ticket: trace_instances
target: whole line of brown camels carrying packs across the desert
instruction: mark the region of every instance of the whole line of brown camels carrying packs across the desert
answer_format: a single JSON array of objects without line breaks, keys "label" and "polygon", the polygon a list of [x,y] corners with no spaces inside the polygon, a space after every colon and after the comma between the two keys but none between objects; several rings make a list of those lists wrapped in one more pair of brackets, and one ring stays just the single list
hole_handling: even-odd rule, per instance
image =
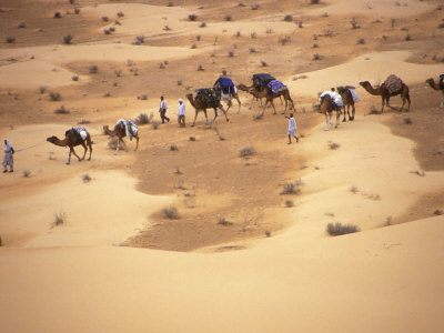
[{"label": "whole line of brown camels carrying packs across the desert", "polygon": [[[281,98],[281,102],[282,98],[285,101],[285,108],[282,112],[283,114],[286,113],[287,109],[293,109],[294,112],[296,111],[287,87],[284,85],[281,81],[278,81],[273,75],[269,73],[256,73],[252,75],[251,80],[251,85],[245,85],[241,83],[236,87],[230,78],[220,77],[214,82],[213,88],[196,89],[195,95],[188,93],[186,99],[195,110],[192,127],[195,125],[198,114],[201,111],[205,115],[205,123],[209,123],[206,113],[208,109],[213,109],[214,111],[214,118],[211,121],[210,127],[215,122],[219,115],[222,115],[222,113],[224,114],[225,120],[229,121],[228,111],[233,105],[232,100],[238,101],[238,113],[240,113],[242,103],[239,98],[239,90],[252,95],[250,109],[252,108],[254,100],[259,100],[260,108],[262,109],[262,115],[264,114],[268,105],[271,105],[274,111],[273,114],[276,114],[276,108],[273,102],[273,100],[276,98]],[[437,83],[433,78],[427,79],[425,82],[432,89],[441,91],[442,100],[440,103],[440,108],[444,108],[444,74],[440,75]],[[407,103],[407,108],[405,110],[410,110],[411,99],[408,85],[405,84],[402,79],[394,74],[389,75],[386,80],[377,87],[373,87],[369,81],[362,81],[360,82],[360,85],[363,87],[370,94],[381,95],[382,107],[380,113],[383,113],[385,105],[391,109],[402,111],[404,110],[404,105]],[[390,105],[390,98],[395,95],[401,95],[402,99],[402,107],[398,109]],[[262,99],[265,99],[265,103],[262,103]],[[180,101],[182,100],[180,99]],[[222,101],[226,102],[226,110],[222,105]],[[334,128],[337,128],[340,125],[341,113],[343,113],[343,122],[346,122],[347,120],[353,121],[355,119],[355,103],[359,101],[360,98],[355,91],[355,87],[336,87],[319,93],[319,104],[314,105],[314,110],[317,110],[319,113],[324,114],[325,130],[329,131],[330,127],[333,124],[332,117],[334,112],[336,113],[336,122],[334,124]],[[182,127],[184,127],[184,117],[182,121]],[[132,120],[120,119],[112,130],[110,130],[108,125],[104,125],[103,133],[110,137],[117,137],[118,140],[115,154],[119,153],[119,149],[127,150],[127,144],[123,141],[123,138],[129,138],[130,140],[134,138],[134,151],[137,151],[139,148],[139,129],[137,123]],[[56,135],[52,135],[48,138],[47,141],[54,145],[68,147],[70,149],[67,164],[70,164],[71,162],[71,154],[74,154],[74,157],[78,158],[79,161],[83,161],[87,155],[88,149],[90,151],[88,160],[91,160],[93,142],[87,129],[83,127],[67,130],[64,133],[64,139],[59,139]],[[74,147],[77,145],[81,145],[84,149],[82,158],[80,158],[74,151]]]}]

